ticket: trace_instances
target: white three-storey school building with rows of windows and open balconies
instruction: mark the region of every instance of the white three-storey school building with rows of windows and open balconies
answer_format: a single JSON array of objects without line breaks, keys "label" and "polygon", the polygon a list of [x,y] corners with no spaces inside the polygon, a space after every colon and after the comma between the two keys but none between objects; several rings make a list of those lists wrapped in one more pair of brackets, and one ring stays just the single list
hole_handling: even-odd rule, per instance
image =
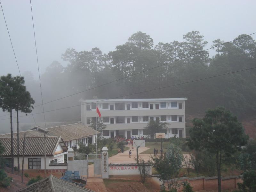
[{"label": "white three-storey school building with rows of windows and open balconies", "polygon": [[169,99],[116,99],[116,100],[79,100],[81,102],[81,121],[91,124],[96,120],[96,105],[107,128],[104,138],[121,136],[147,136],[145,127],[150,120],[166,122],[165,138],[176,135],[186,137],[185,101],[187,98]]}]

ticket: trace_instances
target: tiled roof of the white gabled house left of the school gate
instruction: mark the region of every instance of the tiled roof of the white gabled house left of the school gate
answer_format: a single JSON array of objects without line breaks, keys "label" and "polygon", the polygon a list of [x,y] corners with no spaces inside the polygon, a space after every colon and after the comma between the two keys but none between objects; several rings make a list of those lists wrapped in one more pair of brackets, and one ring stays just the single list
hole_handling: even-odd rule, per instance
[{"label": "tiled roof of the white gabled house left of the school gate", "polygon": [[[25,139],[25,156],[44,155],[44,137],[26,137]],[[0,138],[0,143],[4,147],[3,156],[11,156],[11,138]],[[65,146],[61,137],[46,137],[45,149],[46,155],[54,155],[58,144],[62,146],[64,151],[68,148]],[[20,155],[23,154],[23,138],[19,138]],[[17,138],[13,138],[13,153],[17,155]]]}]

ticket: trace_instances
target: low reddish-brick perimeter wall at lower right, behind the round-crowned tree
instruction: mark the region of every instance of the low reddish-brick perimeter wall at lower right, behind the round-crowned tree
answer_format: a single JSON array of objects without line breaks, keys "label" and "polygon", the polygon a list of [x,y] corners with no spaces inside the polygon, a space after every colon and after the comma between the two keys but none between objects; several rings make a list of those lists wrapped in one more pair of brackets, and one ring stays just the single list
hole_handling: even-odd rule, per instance
[{"label": "low reddish-brick perimeter wall at lower right, behind the round-crowned tree", "polygon": [[[156,175],[152,175],[151,177],[152,181],[155,181],[159,185],[162,185],[163,182],[159,179],[157,179]],[[212,191],[218,189],[218,179],[217,177],[195,177],[195,178],[180,178],[179,182],[187,181],[190,183],[191,187],[194,191],[198,190],[206,190],[206,191]],[[230,189],[236,189],[238,188],[237,183],[243,183],[243,180],[241,176],[231,176],[231,177],[224,177],[221,179],[221,188],[222,190],[230,190]],[[165,184],[167,187],[167,185]],[[182,191],[182,188],[179,188],[178,191]]]}]

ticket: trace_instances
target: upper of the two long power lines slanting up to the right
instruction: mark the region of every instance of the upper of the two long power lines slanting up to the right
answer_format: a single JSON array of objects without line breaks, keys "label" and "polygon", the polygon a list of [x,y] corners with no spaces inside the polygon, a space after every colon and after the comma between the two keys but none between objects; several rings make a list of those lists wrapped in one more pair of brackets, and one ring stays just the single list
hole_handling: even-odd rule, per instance
[{"label": "upper of the two long power lines slanting up to the right", "polygon": [[[246,36],[243,36],[243,37],[239,37],[239,38],[234,39],[234,40],[232,40],[232,41],[225,42],[225,43],[223,43],[223,44],[219,44],[219,45],[213,46],[213,47],[208,48],[208,49],[204,49],[204,50],[202,50],[202,51],[199,51],[199,52],[193,53],[193,54],[191,54],[191,55],[188,55],[188,56],[185,56],[185,57],[182,57],[182,58],[176,59],[176,60],[172,60],[172,61],[167,62],[167,63],[164,63],[164,64],[162,64],[162,65],[158,65],[158,66],[156,66],[156,67],[149,68],[149,69],[146,69],[146,70],[140,71],[140,72],[138,72],[138,73],[134,73],[134,74],[129,75],[129,76],[124,76],[124,77],[122,77],[122,78],[120,78],[120,79],[116,79],[116,80],[114,80],[114,81],[111,81],[111,82],[108,82],[108,83],[105,83],[105,84],[102,84],[102,85],[99,85],[99,86],[96,86],[96,87],[92,87],[92,88],[90,88],[90,89],[86,89],[86,90],[84,90],[84,91],[76,92],[76,93],[71,94],[71,95],[67,95],[67,96],[64,96],[64,97],[61,97],[61,98],[58,98],[58,99],[55,99],[55,100],[51,100],[51,101],[46,102],[46,103],[44,103],[44,104],[48,104],[48,103],[51,103],[51,102],[53,102],[53,101],[61,100],[61,99],[64,99],[64,98],[67,98],[67,97],[70,97],[70,96],[73,96],[73,95],[76,95],[76,94],[79,94],[79,93],[82,93],[82,92],[86,92],[86,91],[89,91],[89,90],[92,90],[92,89],[95,89],[95,88],[98,88],[98,87],[102,87],[102,86],[104,86],[104,85],[111,84],[111,83],[114,83],[114,82],[117,82],[117,81],[120,81],[120,80],[126,79],[126,78],[131,77],[131,76],[138,75],[138,74],[140,74],[140,73],[144,73],[144,72],[146,72],[146,71],[149,71],[149,70],[152,70],[152,69],[155,69],[155,68],[158,68],[158,67],[162,67],[162,66],[164,66],[164,65],[167,65],[167,64],[173,63],[173,62],[175,62],[175,61],[178,61],[178,60],[182,60],[182,59],[185,59],[185,58],[191,57],[191,56],[196,55],[196,54],[199,54],[199,53],[201,53],[201,52],[208,51],[208,50],[210,50],[210,49],[213,49],[213,48],[216,48],[216,47],[222,46],[222,45],[224,45],[224,44],[228,44],[228,43],[234,42],[234,41],[236,41],[236,40],[238,40],[238,39],[242,39],[242,38],[244,38],[244,37],[251,36],[251,35],[254,35],[254,34],[256,34],[256,32],[255,32],[255,33],[251,33],[250,35],[246,35]],[[39,80],[40,80],[40,79],[39,79]],[[36,105],[36,106],[34,106],[34,107],[38,107],[38,106],[41,106],[41,105],[42,105],[42,104],[40,104],[40,105]]]}]

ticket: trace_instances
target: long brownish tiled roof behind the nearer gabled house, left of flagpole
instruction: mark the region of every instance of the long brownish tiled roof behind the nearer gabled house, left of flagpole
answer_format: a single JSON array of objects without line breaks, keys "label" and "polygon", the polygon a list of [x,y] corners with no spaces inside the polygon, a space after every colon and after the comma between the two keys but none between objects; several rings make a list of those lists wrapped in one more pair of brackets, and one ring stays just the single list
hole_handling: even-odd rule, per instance
[{"label": "long brownish tiled roof behind the nearer gabled house, left of flagpole", "polygon": [[[61,136],[64,142],[90,137],[100,133],[82,123],[51,127],[44,130],[47,131],[47,136]],[[37,126],[34,127],[33,130],[19,132],[19,137],[24,137],[24,133],[26,133],[26,137],[41,137],[43,134],[42,128]],[[0,137],[9,138],[11,134],[0,135]],[[13,133],[13,137],[17,137],[17,133]]]}]

